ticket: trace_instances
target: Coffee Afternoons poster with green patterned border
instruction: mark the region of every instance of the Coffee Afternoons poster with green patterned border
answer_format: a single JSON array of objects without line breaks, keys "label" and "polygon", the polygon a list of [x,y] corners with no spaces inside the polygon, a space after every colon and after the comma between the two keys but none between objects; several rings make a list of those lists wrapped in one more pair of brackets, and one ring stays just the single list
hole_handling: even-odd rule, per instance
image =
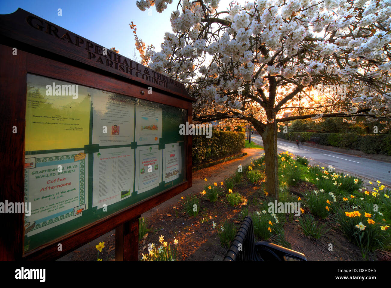
[{"label": "Coffee Afternoons poster with green patterned border", "polygon": [[38,154],[25,157],[25,202],[34,226],[27,236],[74,220],[86,210],[88,155],[84,151]]}]

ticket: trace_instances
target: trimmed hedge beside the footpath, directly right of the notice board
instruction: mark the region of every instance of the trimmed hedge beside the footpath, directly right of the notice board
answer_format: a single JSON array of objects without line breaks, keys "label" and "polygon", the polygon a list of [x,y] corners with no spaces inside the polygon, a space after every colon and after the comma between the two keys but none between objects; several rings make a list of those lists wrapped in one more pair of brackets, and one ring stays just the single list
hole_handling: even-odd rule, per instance
[{"label": "trimmed hedge beside the footpath, directly right of the notice board", "polygon": [[245,145],[243,132],[212,130],[212,137],[193,135],[193,165],[239,154]]}]

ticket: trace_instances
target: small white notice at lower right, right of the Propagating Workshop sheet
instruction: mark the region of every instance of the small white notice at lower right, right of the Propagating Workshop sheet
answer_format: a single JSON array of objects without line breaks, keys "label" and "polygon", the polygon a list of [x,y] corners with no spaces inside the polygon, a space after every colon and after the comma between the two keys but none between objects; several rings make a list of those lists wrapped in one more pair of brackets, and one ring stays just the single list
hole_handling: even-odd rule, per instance
[{"label": "small white notice at lower right, right of the Propagating Workshop sheet", "polygon": [[181,173],[181,155],[179,143],[166,144],[163,151],[163,181],[179,178]]}]

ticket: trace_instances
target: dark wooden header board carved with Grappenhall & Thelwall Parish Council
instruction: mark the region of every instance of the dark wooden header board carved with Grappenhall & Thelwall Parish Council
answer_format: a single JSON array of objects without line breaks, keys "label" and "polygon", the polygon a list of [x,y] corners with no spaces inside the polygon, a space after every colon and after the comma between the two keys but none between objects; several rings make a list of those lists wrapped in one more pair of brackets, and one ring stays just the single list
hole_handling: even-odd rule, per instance
[{"label": "dark wooden header board carved with Grappenhall & Thelwall Parish Council", "polygon": [[[189,97],[185,86],[161,73],[153,71],[125,56],[74,34],[56,24],[18,8],[14,13],[0,15],[0,41],[56,61],[93,70],[108,76],[127,78],[133,83],[160,89],[178,98]],[[11,41],[10,41],[11,40]]]}]

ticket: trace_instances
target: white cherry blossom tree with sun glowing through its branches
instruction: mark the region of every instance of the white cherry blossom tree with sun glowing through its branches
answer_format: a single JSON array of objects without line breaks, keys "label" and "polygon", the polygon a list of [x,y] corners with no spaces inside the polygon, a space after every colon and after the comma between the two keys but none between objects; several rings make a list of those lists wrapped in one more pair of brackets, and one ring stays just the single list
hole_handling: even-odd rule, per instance
[{"label": "white cherry blossom tree with sun glowing through its branches", "polygon": [[136,39],[144,63],[187,85],[194,121],[253,125],[269,194],[278,197],[278,123],[390,117],[391,0],[179,0],[170,21],[160,52]]}]

